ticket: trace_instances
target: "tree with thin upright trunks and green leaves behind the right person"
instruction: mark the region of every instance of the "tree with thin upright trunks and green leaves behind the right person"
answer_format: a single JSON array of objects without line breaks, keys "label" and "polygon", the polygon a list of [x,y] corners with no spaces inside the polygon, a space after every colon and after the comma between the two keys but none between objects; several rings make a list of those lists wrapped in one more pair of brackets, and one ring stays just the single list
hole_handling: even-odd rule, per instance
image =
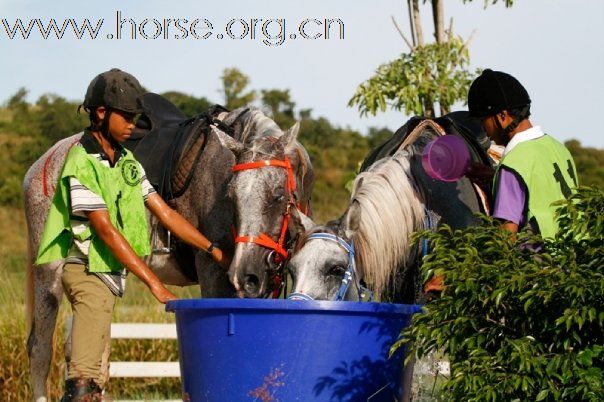
[{"label": "tree with thin upright trunks and green leaves behind the right person", "polygon": [[[407,39],[394,17],[392,21],[409,48],[398,59],[382,64],[374,76],[359,85],[349,106],[357,106],[361,115],[375,115],[388,107],[407,114],[436,116],[446,114],[457,101],[464,101],[473,74],[469,68],[468,44],[444,25],[444,0],[430,1],[434,20],[433,43],[424,42],[419,0],[407,0],[411,40]],[[472,0],[464,0],[468,2]],[[504,0],[507,7],[513,0]],[[497,3],[497,0],[492,0]],[[489,4],[485,0],[485,7]]]}]

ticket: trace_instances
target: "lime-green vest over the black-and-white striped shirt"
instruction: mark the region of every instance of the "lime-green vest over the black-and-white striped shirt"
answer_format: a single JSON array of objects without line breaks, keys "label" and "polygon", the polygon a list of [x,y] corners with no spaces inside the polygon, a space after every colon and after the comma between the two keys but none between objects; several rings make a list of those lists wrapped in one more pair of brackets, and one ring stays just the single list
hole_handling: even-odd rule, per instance
[{"label": "lime-green vest over the black-and-white striped shirt", "polygon": [[67,257],[73,239],[90,239],[88,270],[90,272],[119,272],[122,264],[113,256],[107,245],[97,236],[92,225],[84,233],[75,235],[70,223],[71,198],[69,178],[100,195],[111,223],[120,231],[139,256],[151,252],[147,218],[142,197],[142,172],[132,153],[125,153],[113,168],[104,166],[84,147],[74,146],[67,155],[57,190],[50,206],[44,233],[38,249],[36,264],[44,264]]}]

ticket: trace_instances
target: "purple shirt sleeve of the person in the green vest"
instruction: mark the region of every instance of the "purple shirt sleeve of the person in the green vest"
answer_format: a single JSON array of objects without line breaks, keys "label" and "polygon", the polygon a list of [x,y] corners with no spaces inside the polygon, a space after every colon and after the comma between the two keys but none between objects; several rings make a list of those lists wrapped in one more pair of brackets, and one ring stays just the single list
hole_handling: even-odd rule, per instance
[{"label": "purple shirt sleeve of the person in the green vest", "polygon": [[526,194],[516,175],[509,170],[501,169],[495,190],[493,217],[522,226]]}]

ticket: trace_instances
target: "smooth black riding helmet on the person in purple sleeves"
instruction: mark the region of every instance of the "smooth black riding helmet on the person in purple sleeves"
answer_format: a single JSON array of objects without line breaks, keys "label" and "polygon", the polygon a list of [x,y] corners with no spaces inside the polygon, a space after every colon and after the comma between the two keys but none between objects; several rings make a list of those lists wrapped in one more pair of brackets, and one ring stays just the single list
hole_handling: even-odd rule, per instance
[{"label": "smooth black riding helmet on the person in purple sleeves", "polygon": [[468,109],[473,117],[492,116],[530,103],[528,92],[516,78],[491,69],[484,70],[468,91]]}]

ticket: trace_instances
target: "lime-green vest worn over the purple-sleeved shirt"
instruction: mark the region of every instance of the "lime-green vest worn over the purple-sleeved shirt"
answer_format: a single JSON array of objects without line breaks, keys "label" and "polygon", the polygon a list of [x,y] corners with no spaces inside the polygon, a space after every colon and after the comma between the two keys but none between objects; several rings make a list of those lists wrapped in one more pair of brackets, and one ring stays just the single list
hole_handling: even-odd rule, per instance
[{"label": "lime-green vest worn over the purple-sleeved shirt", "polygon": [[[553,238],[558,231],[556,208],[552,203],[568,198],[577,187],[577,170],[568,149],[552,137],[543,135],[516,145],[501,160],[501,166],[516,173],[526,186],[526,222],[535,222],[542,237]],[[497,188],[496,185],[493,188]]]}]

